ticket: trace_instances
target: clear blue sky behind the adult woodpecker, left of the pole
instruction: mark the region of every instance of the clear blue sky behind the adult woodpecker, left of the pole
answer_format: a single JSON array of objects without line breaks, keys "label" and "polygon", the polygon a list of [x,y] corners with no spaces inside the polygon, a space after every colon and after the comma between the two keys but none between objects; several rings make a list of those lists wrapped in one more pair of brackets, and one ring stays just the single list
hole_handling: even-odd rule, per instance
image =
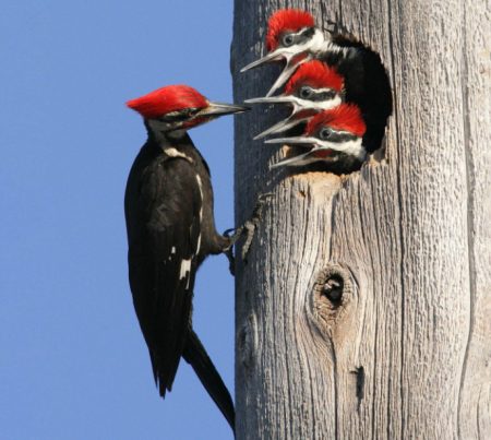
[{"label": "clear blue sky behind the adult woodpecker, left of the pole", "polygon": [[[182,362],[154,388],[127,274],[123,191],[145,132],[129,98],[185,83],[231,100],[231,1],[10,1],[0,14],[0,438],[230,439]],[[191,132],[220,230],[232,119]],[[233,391],[233,281],[202,266],[194,323]]]}]

